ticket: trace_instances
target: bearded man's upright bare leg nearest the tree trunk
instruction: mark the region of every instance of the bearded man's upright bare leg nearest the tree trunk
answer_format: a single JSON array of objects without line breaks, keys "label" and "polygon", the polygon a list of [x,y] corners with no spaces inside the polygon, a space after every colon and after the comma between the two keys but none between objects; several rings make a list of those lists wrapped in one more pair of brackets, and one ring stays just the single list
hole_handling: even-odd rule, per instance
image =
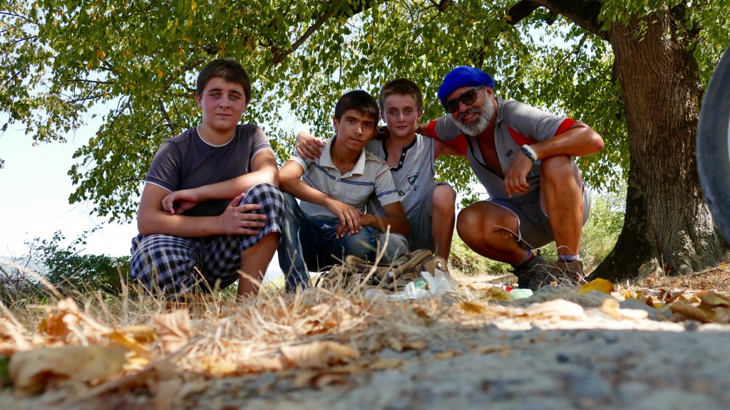
[{"label": "bearded man's upright bare leg nearest the tree trunk", "polygon": [[583,179],[569,156],[558,155],[542,160],[540,195],[550,228],[553,228],[558,255],[580,254]]}]

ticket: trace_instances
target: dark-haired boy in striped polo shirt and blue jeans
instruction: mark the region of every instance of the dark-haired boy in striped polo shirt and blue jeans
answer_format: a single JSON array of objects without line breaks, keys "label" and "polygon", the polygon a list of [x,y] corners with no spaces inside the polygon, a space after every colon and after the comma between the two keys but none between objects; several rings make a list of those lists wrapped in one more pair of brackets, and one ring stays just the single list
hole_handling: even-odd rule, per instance
[{"label": "dark-haired boy in striped polo shirt and blue jeans", "polygon": [[[374,259],[377,248],[386,243],[388,226],[386,260],[408,252],[405,235],[410,225],[388,164],[364,150],[378,117],[377,101],[369,93],[346,93],[334,109],[336,135],[320,158],[304,159],[295,153],[280,169],[287,209],[278,251],[288,291],[308,287],[309,271],[339,263],[347,255]],[[372,193],[383,206],[383,216],[364,214]]]}]

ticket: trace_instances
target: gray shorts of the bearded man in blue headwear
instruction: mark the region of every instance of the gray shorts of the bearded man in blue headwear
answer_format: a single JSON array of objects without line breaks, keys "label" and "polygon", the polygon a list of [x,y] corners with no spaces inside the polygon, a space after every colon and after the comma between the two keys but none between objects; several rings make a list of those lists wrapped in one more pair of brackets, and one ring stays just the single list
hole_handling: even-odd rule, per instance
[{"label": "gray shorts of the bearded man in blue headwear", "polygon": [[[518,242],[526,249],[537,249],[555,240],[553,228],[550,228],[548,214],[540,204],[539,190],[536,195],[525,201],[488,200],[491,204],[502,206],[511,211],[518,220]],[[583,184],[583,225],[591,212],[591,190]]]}]

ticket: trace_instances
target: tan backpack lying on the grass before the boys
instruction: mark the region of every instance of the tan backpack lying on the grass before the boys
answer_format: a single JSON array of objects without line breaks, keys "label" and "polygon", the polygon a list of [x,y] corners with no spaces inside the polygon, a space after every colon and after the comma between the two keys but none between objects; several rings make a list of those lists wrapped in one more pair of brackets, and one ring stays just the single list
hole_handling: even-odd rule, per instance
[{"label": "tan backpack lying on the grass before the boys", "polygon": [[393,263],[379,263],[362,260],[349,255],[342,265],[333,266],[328,272],[321,274],[315,282],[315,287],[344,287],[373,288],[377,287],[388,293],[397,293],[405,289],[408,283],[413,282],[415,287],[427,289],[429,280],[421,275],[426,271],[431,277],[437,271],[450,282],[456,281],[449,274],[446,260],[434,255],[431,250],[415,250],[393,261]]}]

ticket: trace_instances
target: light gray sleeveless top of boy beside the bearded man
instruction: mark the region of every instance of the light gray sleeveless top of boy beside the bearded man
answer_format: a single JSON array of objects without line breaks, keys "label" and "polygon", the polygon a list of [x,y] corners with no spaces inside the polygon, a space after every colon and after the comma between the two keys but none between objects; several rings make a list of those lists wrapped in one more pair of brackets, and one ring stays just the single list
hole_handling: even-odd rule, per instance
[{"label": "light gray sleeveless top of boy beside the bearded man", "polygon": [[[436,168],[434,166],[434,146],[436,142],[420,134],[415,135],[413,142],[401,150],[398,164],[391,168],[391,176],[396,184],[398,196],[407,215],[420,212],[420,204],[434,183]],[[388,149],[385,139],[372,139],[365,146],[383,160],[388,159]],[[371,201],[368,206],[379,209],[377,201]]]}]

